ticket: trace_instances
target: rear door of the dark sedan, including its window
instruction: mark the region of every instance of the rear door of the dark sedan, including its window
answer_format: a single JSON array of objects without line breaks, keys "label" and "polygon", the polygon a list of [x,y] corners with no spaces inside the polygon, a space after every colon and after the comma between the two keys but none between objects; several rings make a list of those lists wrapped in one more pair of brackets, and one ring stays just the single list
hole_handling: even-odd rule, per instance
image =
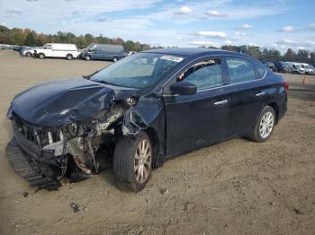
[{"label": "rear door of the dark sedan, including its window", "polygon": [[227,57],[229,73],[229,136],[250,131],[267,95],[266,68],[243,57]]}]

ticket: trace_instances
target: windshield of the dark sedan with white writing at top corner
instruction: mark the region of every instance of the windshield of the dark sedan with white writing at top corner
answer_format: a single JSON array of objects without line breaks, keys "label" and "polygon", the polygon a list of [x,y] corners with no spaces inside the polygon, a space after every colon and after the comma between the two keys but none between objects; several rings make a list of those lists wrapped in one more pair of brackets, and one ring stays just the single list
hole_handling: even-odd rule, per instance
[{"label": "windshield of the dark sedan with white writing at top corner", "polygon": [[159,53],[138,53],[105,67],[90,79],[122,87],[145,88],[161,81],[183,59]]}]

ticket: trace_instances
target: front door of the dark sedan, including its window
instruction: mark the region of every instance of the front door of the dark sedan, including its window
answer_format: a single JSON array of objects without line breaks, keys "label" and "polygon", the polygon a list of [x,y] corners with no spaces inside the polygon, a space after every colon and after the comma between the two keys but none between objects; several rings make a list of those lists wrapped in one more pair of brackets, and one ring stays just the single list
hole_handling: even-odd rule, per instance
[{"label": "front door of the dark sedan, including its window", "polygon": [[220,57],[208,57],[191,65],[184,76],[178,74],[177,80],[171,82],[195,84],[197,92],[194,95],[172,95],[166,88],[164,100],[168,156],[191,151],[226,137],[229,91],[224,86],[223,65]]}]

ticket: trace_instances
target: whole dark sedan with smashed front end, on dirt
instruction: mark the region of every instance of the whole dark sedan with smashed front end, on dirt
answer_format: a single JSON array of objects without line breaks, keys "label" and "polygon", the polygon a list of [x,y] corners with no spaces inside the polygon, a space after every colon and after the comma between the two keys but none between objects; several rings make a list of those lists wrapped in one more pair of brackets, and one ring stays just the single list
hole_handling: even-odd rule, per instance
[{"label": "whole dark sedan with smashed front end, on dirt", "polygon": [[152,170],[184,152],[247,136],[265,142],[287,109],[288,83],[246,55],[155,49],[83,77],[43,83],[14,97],[6,154],[31,186],[112,168],[138,192]]}]

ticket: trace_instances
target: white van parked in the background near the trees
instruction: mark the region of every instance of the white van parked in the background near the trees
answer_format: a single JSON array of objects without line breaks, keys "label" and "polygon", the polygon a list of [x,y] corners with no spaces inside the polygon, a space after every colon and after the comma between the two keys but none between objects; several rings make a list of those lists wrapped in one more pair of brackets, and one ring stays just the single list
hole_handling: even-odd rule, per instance
[{"label": "white van parked in the background near the trees", "polygon": [[79,54],[76,44],[46,43],[42,48],[34,50],[34,57],[60,57],[71,60]]}]

